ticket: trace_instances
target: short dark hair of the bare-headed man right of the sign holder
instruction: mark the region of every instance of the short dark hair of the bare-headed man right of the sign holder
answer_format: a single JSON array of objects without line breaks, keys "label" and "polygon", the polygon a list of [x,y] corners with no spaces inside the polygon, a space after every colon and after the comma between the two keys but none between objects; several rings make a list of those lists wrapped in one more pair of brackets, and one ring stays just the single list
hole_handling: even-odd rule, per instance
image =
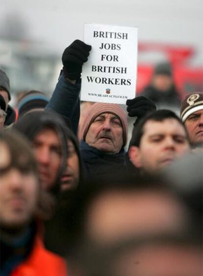
[{"label": "short dark hair of the bare-headed man right of the sign holder", "polygon": [[139,123],[138,125],[136,125],[133,129],[132,132],[132,138],[130,141],[130,146],[136,146],[139,147],[140,146],[140,141],[142,139],[142,135],[144,134],[144,126],[148,121],[155,121],[155,122],[163,122],[166,119],[175,119],[178,121],[178,123],[180,125],[182,125],[182,127],[185,130],[185,133],[187,135],[187,139],[189,141],[188,138],[188,134],[187,134],[187,130],[185,128],[185,125],[182,123],[182,121],[180,120],[180,118],[176,115],[176,113],[174,113],[173,111],[169,110],[169,109],[160,109],[160,110],[156,110],[152,113],[147,114]]}]

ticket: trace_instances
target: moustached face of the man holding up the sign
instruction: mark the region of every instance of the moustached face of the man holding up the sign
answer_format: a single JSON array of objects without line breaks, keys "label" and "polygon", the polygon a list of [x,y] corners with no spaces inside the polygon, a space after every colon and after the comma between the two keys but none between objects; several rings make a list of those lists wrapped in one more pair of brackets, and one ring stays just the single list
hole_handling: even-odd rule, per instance
[{"label": "moustached face of the man holding up the sign", "polygon": [[100,114],[90,125],[85,141],[100,151],[119,152],[123,145],[123,128],[119,118],[111,113]]}]

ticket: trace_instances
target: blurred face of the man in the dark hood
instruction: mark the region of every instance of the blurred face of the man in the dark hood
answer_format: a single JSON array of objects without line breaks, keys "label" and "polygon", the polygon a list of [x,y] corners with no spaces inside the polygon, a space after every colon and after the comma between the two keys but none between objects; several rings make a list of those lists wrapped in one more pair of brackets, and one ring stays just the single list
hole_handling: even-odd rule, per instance
[{"label": "blurred face of the man in the dark hood", "polygon": [[61,164],[59,137],[51,128],[40,131],[33,140],[42,187],[49,190],[54,185]]}]

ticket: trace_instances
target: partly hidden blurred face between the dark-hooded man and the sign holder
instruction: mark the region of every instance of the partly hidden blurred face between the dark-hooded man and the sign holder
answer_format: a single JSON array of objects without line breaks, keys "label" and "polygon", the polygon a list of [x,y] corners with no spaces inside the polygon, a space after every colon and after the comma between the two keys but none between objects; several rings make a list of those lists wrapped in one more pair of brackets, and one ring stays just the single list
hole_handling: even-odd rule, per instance
[{"label": "partly hidden blurred face between the dark-hooded man and the sign holder", "polygon": [[66,171],[63,173],[63,176],[61,179],[62,191],[76,188],[78,181],[79,181],[79,159],[73,142],[69,140]]}]

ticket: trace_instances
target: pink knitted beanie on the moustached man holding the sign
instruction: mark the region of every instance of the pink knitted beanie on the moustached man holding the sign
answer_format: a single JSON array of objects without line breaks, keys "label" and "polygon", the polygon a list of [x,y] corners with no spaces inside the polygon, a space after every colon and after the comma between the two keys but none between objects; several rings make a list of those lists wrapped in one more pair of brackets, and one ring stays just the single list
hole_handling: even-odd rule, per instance
[{"label": "pink knitted beanie on the moustached man holding the sign", "polygon": [[79,130],[80,133],[78,136],[82,137],[83,140],[85,141],[85,137],[91,123],[101,113],[112,113],[118,116],[123,128],[123,147],[125,147],[127,143],[127,116],[124,109],[119,104],[116,104],[116,103],[104,103],[104,102],[94,103],[88,110],[86,116],[84,117],[83,125],[81,125],[80,127],[80,130]]}]

